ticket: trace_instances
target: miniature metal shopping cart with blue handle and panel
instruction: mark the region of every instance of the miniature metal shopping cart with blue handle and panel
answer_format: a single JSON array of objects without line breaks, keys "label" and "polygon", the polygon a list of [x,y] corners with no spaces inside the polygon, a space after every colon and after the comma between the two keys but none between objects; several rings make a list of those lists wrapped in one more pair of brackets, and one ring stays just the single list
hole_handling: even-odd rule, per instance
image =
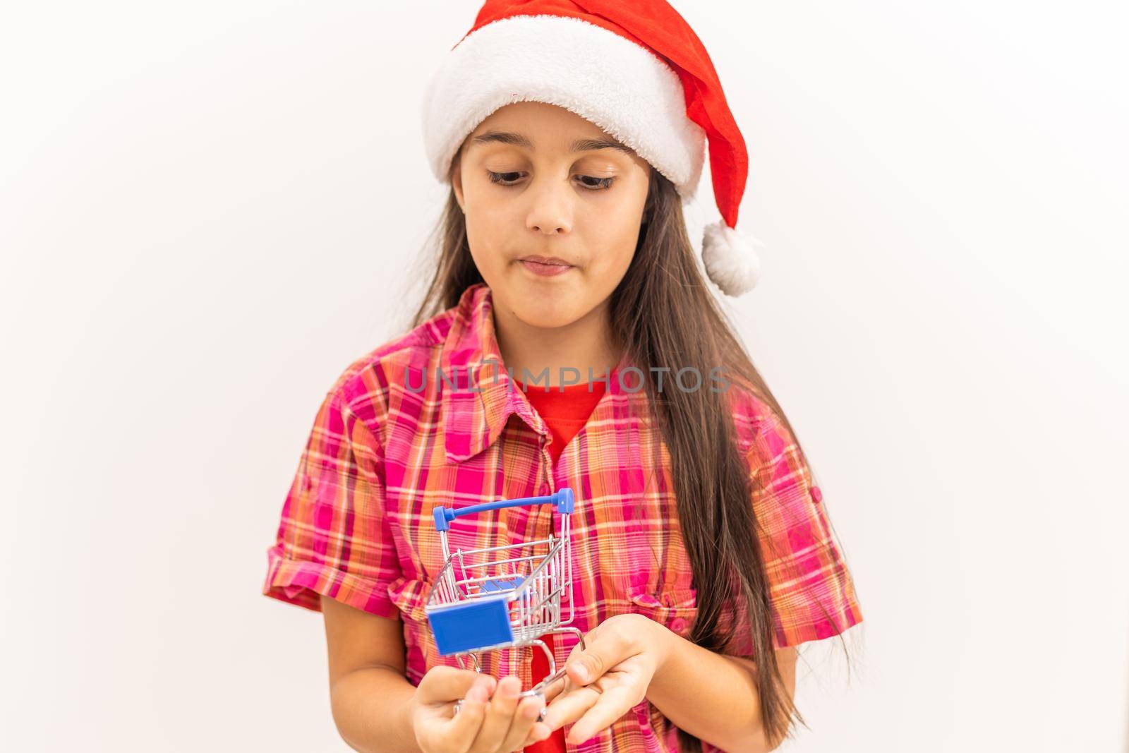
[{"label": "miniature metal shopping cart with blue handle and panel", "polygon": [[[458,549],[454,553],[448,549],[447,531],[456,517],[533,505],[557,508],[561,515],[559,536],[550,534],[540,541],[505,546]],[[524,691],[523,697],[542,693],[564,675],[563,667],[557,669],[553,654],[541,638],[550,633],[572,633],[584,649],[584,636],[576,628],[567,627],[574,618],[569,525],[574,506],[572,490],[563,488],[545,497],[500,499],[460,509],[435,508],[435,528],[439,532],[444,564],[425,611],[441,655],[454,655],[465,669],[463,657],[469,654],[474,660],[474,671],[481,672],[481,651],[540,647],[549,657],[549,674]],[[458,703],[455,711],[458,711]]]}]

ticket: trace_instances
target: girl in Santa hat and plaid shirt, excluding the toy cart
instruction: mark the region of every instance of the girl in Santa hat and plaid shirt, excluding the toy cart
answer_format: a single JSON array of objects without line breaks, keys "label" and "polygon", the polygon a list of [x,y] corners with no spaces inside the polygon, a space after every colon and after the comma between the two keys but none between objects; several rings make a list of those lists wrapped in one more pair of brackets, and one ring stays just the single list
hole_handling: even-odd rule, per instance
[{"label": "girl in Santa hat and plaid shirt, excluding the toy cart", "polygon": [[[798,719],[796,647],[861,615],[686,235],[708,140],[723,221],[704,269],[729,295],[755,283],[734,229],[744,142],[709,56],[658,0],[488,1],[428,87],[425,132],[452,187],[430,288],[413,329],[325,395],[263,586],[323,612],[338,729],[388,753],[771,750]],[[436,648],[432,509],[562,487],[586,648],[558,634],[566,676],[520,697],[540,651],[488,651],[475,673]],[[448,535],[466,550],[559,525],[513,507]]]}]

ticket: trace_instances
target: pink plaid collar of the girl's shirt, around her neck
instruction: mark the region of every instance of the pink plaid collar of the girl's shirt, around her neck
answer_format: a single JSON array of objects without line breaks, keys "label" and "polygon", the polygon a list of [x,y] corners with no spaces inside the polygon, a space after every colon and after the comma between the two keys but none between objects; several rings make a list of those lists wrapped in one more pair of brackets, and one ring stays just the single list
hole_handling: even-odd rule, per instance
[{"label": "pink plaid collar of the girl's shirt, around her neck", "polygon": [[[443,402],[445,450],[452,463],[473,457],[497,441],[514,413],[546,441],[552,441],[549,427],[525,396],[520,383],[510,379],[506,371],[490,294],[484,282],[463,291],[444,341],[440,373],[435,375]],[[607,375],[607,393],[625,392],[619,384],[619,373],[629,366],[624,354]],[[630,384],[637,382],[632,379]]]}]

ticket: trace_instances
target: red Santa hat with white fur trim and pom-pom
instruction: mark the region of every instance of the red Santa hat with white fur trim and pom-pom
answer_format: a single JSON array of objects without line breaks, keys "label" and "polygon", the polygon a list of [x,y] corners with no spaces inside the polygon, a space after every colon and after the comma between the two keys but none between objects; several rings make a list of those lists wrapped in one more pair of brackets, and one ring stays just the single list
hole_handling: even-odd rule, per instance
[{"label": "red Santa hat with white fur trim and pom-pom", "polygon": [[435,176],[446,182],[466,135],[515,102],[558,105],[590,121],[666,176],[683,201],[694,196],[708,139],[721,219],[706,226],[706,272],[729,296],[756,284],[763,246],[736,230],[745,141],[706,47],[669,3],[487,0],[423,96]]}]

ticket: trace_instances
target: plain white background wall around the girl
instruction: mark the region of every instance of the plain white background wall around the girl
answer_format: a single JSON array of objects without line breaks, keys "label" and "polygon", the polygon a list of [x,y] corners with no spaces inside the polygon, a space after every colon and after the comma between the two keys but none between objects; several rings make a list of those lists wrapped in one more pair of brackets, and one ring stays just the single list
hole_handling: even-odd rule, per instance
[{"label": "plain white background wall around the girl", "polygon": [[[865,615],[789,750],[1129,750],[1123,6],[675,6]],[[347,750],[321,616],[259,589],[324,391],[417,303],[420,94],[476,9],[8,3],[6,748]]]}]

